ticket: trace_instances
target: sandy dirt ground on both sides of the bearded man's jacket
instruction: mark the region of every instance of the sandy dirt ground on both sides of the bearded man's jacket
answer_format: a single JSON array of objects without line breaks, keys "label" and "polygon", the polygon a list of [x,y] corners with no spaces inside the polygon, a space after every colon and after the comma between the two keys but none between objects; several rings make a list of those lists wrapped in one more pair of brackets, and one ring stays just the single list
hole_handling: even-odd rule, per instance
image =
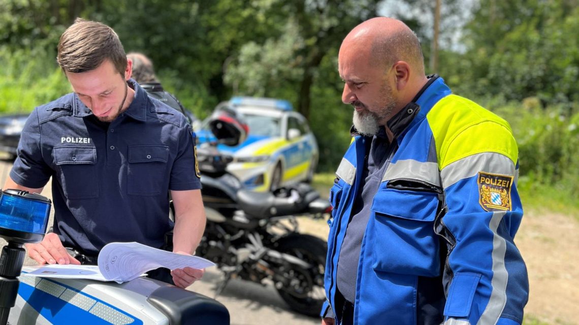
[{"label": "sandy dirt ground on both sides of the bearded man's jacket", "polygon": [[[300,218],[302,232],[326,239],[328,225]],[[526,213],[515,243],[529,270],[528,319],[579,325],[579,221],[558,214]]]}]

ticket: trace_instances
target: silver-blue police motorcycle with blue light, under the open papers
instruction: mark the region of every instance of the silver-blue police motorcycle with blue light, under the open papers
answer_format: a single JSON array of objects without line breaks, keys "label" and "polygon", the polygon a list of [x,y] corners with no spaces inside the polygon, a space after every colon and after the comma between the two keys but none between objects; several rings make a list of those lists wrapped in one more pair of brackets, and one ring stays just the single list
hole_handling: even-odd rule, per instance
[{"label": "silver-blue police motorcycle with blue light, under the open papers", "polygon": [[21,275],[24,243],[42,240],[51,202],[39,194],[0,190],[0,325],[229,324],[219,302],[149,278],[129,282]]}]

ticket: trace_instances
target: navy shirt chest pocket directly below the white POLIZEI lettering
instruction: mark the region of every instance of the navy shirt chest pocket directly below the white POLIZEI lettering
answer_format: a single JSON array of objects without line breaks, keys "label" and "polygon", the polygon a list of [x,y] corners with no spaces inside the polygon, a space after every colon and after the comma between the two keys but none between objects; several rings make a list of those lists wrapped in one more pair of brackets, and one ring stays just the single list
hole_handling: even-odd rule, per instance
[{"label": "navy shirt chest pocket directly below the white POLIZEI lettering", "polygon": [[54,147],[53,159],[66,198],[79,200],[98,197],[95,147]]}]

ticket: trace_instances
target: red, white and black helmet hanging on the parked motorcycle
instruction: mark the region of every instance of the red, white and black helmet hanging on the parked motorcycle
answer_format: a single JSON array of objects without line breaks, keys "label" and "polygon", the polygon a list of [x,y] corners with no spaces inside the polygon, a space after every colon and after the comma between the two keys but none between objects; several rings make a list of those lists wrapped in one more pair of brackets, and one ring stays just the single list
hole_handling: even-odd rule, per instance
[{"label": "red, white and black helmet hanging on the parked motorcycle", "polygon": [[226,146],[237,146],[244,142],[250,131],[241,113],[227,103],[217,106],[208,126],[215,138]]}]

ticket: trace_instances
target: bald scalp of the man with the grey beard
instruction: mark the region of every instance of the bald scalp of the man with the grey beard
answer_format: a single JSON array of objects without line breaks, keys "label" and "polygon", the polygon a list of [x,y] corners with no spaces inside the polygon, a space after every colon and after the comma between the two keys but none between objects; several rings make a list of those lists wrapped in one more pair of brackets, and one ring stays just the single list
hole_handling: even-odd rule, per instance
[{"label": "bald scalp of the man with the grey beard", "polygon": [[424,76],[424,57],[416,34],[402,21],[376,17],[357,25],[340,47],[369,51],[373,65],[389,69],[395,62],[407,62],[416,75]]}]

